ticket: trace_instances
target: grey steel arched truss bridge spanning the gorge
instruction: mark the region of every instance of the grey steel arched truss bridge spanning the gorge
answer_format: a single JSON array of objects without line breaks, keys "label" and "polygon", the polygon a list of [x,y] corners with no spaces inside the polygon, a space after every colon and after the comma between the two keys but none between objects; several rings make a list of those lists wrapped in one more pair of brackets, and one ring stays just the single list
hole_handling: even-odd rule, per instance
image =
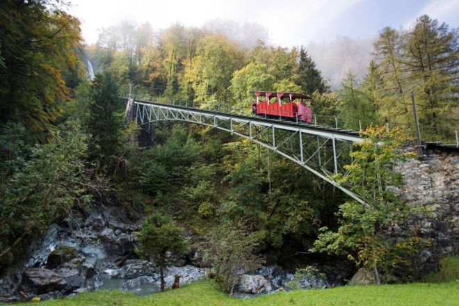
[{"label": "grey steel arched truss bridge spanning the gorge", "polygon": [[298,163],[364,203],[359,195],[332,178],[338,174],[343,177],[348,175],[344,165],[351,163],[349,153],[353,143],[361,143],[364,139],[357,131],[195,108],[194,104],[185,102],[176,105],[174,102],[146,101],[134,96],[122,96],[121,99],[127,102],[127,117],[135,118],[149,129],[152,122],[172,120],[202,124],[248,138]]}]

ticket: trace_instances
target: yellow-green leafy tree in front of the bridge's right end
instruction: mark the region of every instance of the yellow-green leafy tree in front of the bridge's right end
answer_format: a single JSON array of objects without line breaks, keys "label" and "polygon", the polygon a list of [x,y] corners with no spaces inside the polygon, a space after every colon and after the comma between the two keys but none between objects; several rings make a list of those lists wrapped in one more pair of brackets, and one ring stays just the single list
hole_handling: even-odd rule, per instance
[{"label": "yellow-green leafy tree in front of the bridge's right end", "polygon": [[[364,204],[355,200],[341,204],[339,228],[330,231],[323,227],[312,250],[347,255],[358,266],[374,271],[376,282],[380,282],[380,271],[389,274],[396,267],[410,264],[409,255],[423,245],[414,229],[406,226],[415,214],[421,216],[422,209],[406,205],[393,192],[402,184],[394,166],[413,156],[397,150],[403,144],[401,131],[369,127],[362,134],[366,138],[360,150],[351,153],[353,162],[345,166],[349,174],[337,179],[341,184],[350,184]],[[406,234],[391,239],[387,229],[395,224],[406,229]]]}]

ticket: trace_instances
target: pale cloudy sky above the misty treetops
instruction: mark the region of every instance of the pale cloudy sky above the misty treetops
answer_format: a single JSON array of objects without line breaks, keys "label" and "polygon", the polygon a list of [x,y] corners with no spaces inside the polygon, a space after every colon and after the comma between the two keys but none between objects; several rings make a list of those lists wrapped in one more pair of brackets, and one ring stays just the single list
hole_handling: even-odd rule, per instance
[{"label": "pale cloudy sky above the misty treetops", "polygon": [[122,21],[165,29],[179,22],[202,26],[210,19],[256,22],[269,43],[292,47],[327,42],[337,35],[367,38],[385,26],[409,28],[423,14],[459,27],[459,0],[70,0],[83,38],[95,43],[98,30]]}]

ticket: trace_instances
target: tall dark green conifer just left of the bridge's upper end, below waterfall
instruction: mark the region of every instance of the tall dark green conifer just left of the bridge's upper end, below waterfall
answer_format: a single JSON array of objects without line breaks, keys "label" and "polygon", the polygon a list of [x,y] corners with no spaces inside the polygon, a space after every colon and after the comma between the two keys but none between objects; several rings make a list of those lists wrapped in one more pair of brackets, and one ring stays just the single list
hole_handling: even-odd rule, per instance
[{"label": "tall dark green conifer just left of the bridge's upper end, below waterfall", "polygon": [[104,158],[115,153],[120,143],[122,104],[118,86],[110,74],[96,74],[92,83],[86,129],[95,136],[90,146],[93,157]]}]

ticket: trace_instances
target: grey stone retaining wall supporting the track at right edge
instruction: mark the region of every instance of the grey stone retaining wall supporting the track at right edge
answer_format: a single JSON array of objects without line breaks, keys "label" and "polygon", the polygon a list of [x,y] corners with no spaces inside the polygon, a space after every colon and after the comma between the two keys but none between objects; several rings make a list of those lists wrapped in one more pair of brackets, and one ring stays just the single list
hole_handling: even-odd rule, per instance
[{"label": "grey stone retaining wall supporting the track at right edge", "polygon": [[419,230],[421,236],[433,239],[431,248],[421,253],[421,262],[458,253],[459,150],[428,150],[424,159],[410,159],[395,170],[403,175],[401,198],[426,205],[432,213]]}]

